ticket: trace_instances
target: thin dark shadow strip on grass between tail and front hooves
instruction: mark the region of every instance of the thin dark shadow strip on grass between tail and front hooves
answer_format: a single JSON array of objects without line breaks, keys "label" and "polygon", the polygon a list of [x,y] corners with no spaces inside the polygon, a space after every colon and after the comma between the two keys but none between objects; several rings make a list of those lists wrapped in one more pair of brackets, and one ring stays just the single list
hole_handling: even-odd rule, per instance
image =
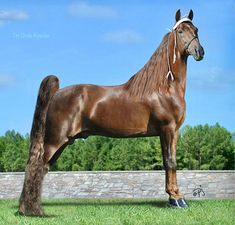
[{"label": "thin dark shadow strip on grass between tail and front hooves", "polygon": [[133,200],[66,200],[65,202],[44,202],[43,206],[145,206],[149,205],[157,208],[166,208],[166,201],[133,201]]}]

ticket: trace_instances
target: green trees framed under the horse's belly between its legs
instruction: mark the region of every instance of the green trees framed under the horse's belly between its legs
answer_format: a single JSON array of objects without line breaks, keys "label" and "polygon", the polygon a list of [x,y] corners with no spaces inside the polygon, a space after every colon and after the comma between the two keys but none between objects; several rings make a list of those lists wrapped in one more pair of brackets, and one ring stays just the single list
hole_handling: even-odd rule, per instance
[{"label": "green trees framed under the horse's belly between its legs", "polygon": [[161,169],[158,138],[115,139],[89,137],[67,147],[55,170],[149,170]]}]

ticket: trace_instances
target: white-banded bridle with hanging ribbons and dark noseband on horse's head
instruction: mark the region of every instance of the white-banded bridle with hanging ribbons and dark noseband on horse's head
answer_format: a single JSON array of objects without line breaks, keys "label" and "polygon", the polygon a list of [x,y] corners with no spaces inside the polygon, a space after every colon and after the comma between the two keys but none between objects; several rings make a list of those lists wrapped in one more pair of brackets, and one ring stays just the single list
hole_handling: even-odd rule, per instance
[{"label": "white-banded bridle with hanging ribbons and dark noseband on horse's head", "polygon": [[[170,30],[173,34],[174,34],[174,55],[173,55],[173,64],[175,64],[175,62],[176,62],[176,53],[175,53],[175,51],[176,51],[176,42],[177,42],[177,40],[176,40],[176,32],[175,32],[175,30],[176,30],[176,28],[181,24],[181,23],[183,23],[183,22],[190,22],[190,23],[192,23],[192,20],[190,20],[188,17],[185,17],[185,18],[182,18],[182,19],[180,19],[180,20],[178,20],[177,22],[176,22],[176,24],[174,25],[174,27],[172,28],[172,30]],[[174,81],[174,75],[173,75],[173,73],[172,73],[172,70],[171,70],[171,65],[170,65],[170,57],[169,57],[169,36],[170,35],[168,35],[168,41],[167,41],[167,64],[168,64],[168,73],[167,73],[167,75],[166,75],[166,79],[169,79],[169,77],[170,77],[170,79],[172,80],[172,81]],[[194,39],[196,39],[196,38],[198,38],[197,36],[193,36],[193,38],[187,43],[187,45],[185,46],[185,51],[186,52],[188,52],[188,48],[189,48],[189,46],[190,46],[190,44],[192,43],[192,41],[194,40]]]}]

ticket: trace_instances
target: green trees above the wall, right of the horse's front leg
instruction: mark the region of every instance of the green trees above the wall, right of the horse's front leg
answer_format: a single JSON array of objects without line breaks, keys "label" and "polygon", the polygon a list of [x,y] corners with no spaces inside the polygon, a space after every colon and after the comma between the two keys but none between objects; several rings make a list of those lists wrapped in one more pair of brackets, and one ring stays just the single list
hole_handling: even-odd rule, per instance
[{"label": "green trees above the wall, right of the horse's front leg", "polygon": [[235,144],[231,133],[219,124],[186,126],[178,142],[182,169],[235,169]]}]

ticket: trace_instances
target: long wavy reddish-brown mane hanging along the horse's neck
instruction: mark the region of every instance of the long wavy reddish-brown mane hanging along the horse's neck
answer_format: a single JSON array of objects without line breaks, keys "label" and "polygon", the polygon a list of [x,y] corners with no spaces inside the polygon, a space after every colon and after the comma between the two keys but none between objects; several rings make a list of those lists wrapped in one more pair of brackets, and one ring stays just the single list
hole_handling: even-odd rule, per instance
[{"label": "long wavy reddish-brown mane hanging along the horse's neck", "polygon": [[141,98],[155,91],[162,92],[168,89],[166,74],[168,72],[167,45],[169,34],[167,33],[164,36],[160,46],[145,66],[124,84],[124,88],[130,96]]}]

